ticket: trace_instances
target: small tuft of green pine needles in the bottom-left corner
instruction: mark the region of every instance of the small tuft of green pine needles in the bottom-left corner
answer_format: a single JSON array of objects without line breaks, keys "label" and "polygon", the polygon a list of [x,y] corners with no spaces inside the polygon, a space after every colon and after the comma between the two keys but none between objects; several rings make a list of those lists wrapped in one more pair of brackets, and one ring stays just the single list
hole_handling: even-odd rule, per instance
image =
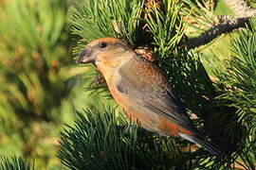
[{"label": "small tuft of green pine needles in the bottom-left corner", "polygon": [[0,157],[0,169],[3,170],[32,170],[34,166],[21,158],[12,157],[10,160]]}]

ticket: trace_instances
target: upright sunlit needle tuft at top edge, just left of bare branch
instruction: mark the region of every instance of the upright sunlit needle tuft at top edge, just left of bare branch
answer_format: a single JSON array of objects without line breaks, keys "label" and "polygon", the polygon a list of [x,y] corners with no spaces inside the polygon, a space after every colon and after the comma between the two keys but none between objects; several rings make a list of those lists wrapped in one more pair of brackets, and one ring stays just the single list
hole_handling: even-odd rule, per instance
[{"label": "upright sunlit needle tuft at top edge, just left of bare branch", "polygon": [[182,15],[179,15],[180,8],[174,1],[165,0],[161,6],[147,9],[146,25],[153,36],[155,52],[159,51],[161,58],[165,58],[170,51],[181,45],[180,42],[184,38],[185,26]]}]

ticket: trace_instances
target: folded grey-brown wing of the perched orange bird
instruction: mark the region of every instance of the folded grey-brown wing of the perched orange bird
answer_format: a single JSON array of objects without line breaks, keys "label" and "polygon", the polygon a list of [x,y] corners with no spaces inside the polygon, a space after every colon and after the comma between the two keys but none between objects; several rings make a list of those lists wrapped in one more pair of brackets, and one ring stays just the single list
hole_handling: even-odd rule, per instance
[{"label": "folded grey-brown wing of the perched orange bird", "polygon": [[[153,63],[135,55],[119,67],[120,93],[128,95],[146,111],[160,114],[175,124],[192,130],[186,110],[177,100],[165,76]],[[194,130],[192,130],[194,131]]]}]

